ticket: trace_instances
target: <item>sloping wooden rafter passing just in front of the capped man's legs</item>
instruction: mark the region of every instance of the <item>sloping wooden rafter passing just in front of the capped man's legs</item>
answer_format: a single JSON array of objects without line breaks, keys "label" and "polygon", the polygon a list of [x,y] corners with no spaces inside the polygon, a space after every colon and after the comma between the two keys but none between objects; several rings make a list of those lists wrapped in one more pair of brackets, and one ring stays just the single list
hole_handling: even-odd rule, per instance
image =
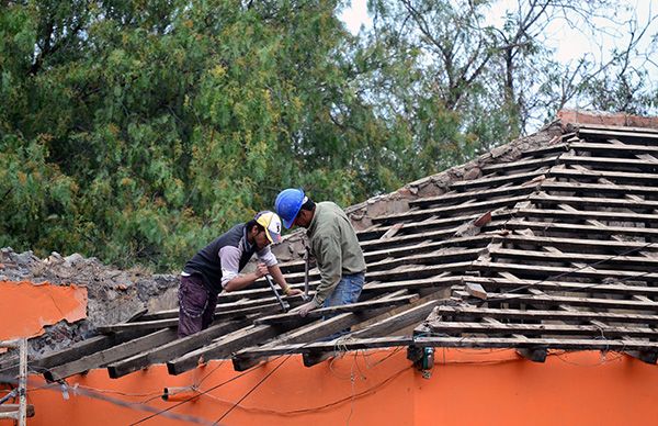
[{"label": "sloping wooden rafter passing just in front of the capped man's legs", "polygon": [[249,324],[250,321],[231,321],[212,325],[196,334],[175,339],[133,357],[113,362],[107,366],[107,372],[112,379],[117,379],[144,367],[170,361],[183,354],[202,347],[207,341],[217,337],[247,327]]}]

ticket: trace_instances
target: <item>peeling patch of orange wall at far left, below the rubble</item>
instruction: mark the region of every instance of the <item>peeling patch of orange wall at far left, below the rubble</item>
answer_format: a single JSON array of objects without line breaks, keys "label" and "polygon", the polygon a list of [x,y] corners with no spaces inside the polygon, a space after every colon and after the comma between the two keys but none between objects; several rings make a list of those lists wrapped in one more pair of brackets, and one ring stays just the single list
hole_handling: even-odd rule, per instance
[{"label": "peeling patch of orange wall at far left, below the rubble", "polygon": [[0,340],[38,336],[45,325],[86,317],[84,287],[0,281]]}]

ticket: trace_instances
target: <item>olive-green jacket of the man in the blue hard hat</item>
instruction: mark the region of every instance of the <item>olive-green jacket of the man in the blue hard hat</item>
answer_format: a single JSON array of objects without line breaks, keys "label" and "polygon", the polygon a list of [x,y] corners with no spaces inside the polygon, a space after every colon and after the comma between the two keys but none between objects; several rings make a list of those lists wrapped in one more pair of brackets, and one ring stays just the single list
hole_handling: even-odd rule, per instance
[{"label": "olive-green jacket of the man in the blue hard hat", "polygon": [[365,259],[348,215],[336,203],[316,204],[306,235],[320,270],[315,299],[321,305],[343,274],[365,272]]}]

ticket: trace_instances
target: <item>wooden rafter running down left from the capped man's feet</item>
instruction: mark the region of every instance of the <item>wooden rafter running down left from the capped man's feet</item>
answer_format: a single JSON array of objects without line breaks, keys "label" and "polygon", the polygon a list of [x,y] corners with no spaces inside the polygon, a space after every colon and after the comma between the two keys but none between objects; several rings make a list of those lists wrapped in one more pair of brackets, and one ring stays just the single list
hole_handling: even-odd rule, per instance
[{"label": "wooden rafter running down left from the capped man's feet", "polygon": [[132,357],[135,354],[151,349],[152,347],[164,345],[175,338],[175,328],[160,329],[118,346],[88,355],[78,360],[52,367],[44,373],[44,377],[48,381],[66,379],[70,375],[99,368],[123,358]]}]

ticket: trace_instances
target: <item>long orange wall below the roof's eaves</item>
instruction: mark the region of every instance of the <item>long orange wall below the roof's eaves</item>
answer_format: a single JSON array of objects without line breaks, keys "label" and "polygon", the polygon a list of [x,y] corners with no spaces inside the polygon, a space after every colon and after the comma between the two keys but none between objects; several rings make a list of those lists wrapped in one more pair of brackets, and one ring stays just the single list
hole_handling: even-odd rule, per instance
[{"label": "long orange wall below the roof's eaves", "polygon": [[[68,379],[69,385],[100,390],[94,394],[115,403],[76,395],[73,390],[65,401],[59,386],[34,390],[43,384],[34,378],[29,399],[36,415],[30,424],[128,425],[149,413],[139,411],[139,404],[124,407],[116,402],[172,407],[175,403],[158,397],[162,388],[195,382],[202,390],[217,388],[171,413],[213,423],[263,379],[220,424],[619,425],[658,419],[657,367],[619,354],[554,354],[545,363],[533,363],[511,350],[438,349],[430,379],[405,357],[405,350],[377,350],[305,368],[299,356],[292,356],[246,374],[234,371],[230,361],[213,361],[179,377],[156,366],[118,380],[109,379],[105,370]],[[158,416],[139,424],[191,423]]]}]

